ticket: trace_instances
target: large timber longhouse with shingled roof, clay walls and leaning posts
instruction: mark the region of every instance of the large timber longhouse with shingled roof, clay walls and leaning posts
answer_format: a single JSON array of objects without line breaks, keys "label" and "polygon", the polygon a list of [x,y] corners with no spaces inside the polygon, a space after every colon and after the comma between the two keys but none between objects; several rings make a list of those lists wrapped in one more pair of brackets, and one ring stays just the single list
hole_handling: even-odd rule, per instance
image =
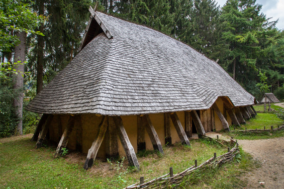
[{"label": "large timber longhouse with shingled roof, clay walls and leaning posts", "polygon": [[229,130],[256,112],[254,96],[217,63],[163,33],[90,8],[80,52],[27,110],[43,113],[33,140],[95,157],[189,144],[192,133]]}]

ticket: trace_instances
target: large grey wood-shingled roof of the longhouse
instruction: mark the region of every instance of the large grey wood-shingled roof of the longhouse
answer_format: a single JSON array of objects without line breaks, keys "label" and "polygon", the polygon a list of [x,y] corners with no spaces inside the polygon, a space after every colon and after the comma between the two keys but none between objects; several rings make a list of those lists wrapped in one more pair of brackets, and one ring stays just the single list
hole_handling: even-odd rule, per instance
[{"label": "large grey wood-shingled roof of the longhouse", "polygon": [[228,96],[235,106],[254,104],[254,96],[188,45],[145,26],[95,16],[108,30],[96,28],[93,18],[83,49],[27,110],[146,114],[207,109],[218,96]]}]

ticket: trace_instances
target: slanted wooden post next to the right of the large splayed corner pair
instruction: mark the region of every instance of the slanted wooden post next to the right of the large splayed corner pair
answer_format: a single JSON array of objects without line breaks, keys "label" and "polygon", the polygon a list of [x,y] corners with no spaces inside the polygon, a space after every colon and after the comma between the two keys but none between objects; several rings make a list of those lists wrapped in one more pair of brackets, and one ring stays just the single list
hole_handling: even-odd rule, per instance
[{"label": "slanted wooden post next to the right of the large splayed corner pair", "polygon": [[152,122],[151,122],[149,115],[148,114],[144,115],[142,117],[142,120],[145,122],[145,128],[146,128],[146,131],[147,131],[147,133],[150,137],[150,140],[152,142],[154,150],[158,150],[161,154],[164,155],[164,151],[163,151],[163,148],[162,148],[161,141],[160,141],[158,134],[157,134]]}]

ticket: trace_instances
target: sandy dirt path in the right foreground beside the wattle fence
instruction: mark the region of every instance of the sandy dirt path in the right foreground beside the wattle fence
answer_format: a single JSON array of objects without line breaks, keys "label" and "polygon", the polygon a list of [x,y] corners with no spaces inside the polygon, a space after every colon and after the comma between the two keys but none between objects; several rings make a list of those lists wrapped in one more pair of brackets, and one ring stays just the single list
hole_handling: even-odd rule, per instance
[{"label": "sandy dirt path in the right foreground beside the wattle fence", "polygon": [[[243,150],[261,162],[261,167],[242,176],[247,189],[284,188],[284,137],[262,140],[238,140]],[[263,184],[261,184],[263,182]]]}]

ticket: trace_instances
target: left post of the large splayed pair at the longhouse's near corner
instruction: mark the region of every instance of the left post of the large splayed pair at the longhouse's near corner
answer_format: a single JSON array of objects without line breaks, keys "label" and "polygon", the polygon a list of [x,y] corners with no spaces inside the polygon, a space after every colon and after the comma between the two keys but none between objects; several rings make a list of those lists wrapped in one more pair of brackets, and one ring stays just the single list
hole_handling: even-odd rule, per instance
[{"label": "left post of the large splayed pair at the longhouse's near corner", "polygon": [[[99,149],[99,147],[101,145],[101,142],[102,142],[102,140],[104,138],[106,129],[107,129],[107,116],[104,115],[102,117],[102,120],[101,120],[99,126],[98,126],[98,132],[97,132],[97,134],[95,136],[95,140],[94,140],[91,148],[88,151],[87,159],[86,159],[85,164],[84,164],[84,169],[85,170],[88,170],[89,168],[91,168],[93,166],[96,153],[97,153],[97,151],[98,151],[98,149]],[[65,133],[65,131],[64,131],[64,133]]]}]

